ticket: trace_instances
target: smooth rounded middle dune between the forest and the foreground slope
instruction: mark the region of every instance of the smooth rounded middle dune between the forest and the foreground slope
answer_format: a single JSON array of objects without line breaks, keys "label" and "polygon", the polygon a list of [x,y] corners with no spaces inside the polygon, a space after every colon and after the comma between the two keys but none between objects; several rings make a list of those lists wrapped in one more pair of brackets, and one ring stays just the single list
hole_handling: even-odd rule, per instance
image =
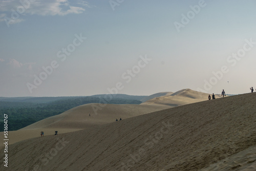
[{"label": "smooth rounded middle dune between the forest and the foreground slope", "polygon": [[[167,106],[136,104],[84,104],[60,115],[35,122],[23,129],[10,131],[9,144],[39,137],[41,131],[44,131],[45,136],[54,135],[55,131],[58,131],[58,134],[69,133],[115,122],[116,119],[127,119],[167,108]],[[0,136],[4,137],[3,132],[0,133]],[[0,146],[3,146],[3,143]]]}]

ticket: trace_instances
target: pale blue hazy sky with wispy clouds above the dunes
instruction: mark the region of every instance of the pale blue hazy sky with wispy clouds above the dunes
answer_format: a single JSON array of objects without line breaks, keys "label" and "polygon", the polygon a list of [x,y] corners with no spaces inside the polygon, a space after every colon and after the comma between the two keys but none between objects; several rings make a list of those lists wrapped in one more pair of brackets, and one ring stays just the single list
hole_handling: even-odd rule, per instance
[{"label": "pale blue hazy sky with wispy clouds above the dunes", "polygon": [[0,96],[249,93],[256,88],[255,5],[1,0]]}]

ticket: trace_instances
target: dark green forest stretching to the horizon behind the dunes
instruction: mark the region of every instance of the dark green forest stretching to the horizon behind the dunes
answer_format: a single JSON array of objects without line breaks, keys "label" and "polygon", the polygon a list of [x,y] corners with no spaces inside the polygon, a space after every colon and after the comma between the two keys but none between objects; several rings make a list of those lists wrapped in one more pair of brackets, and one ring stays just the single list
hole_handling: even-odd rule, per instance
[{"label": "dark green forest stretching to the horizon behind the dunes", "polygon": [[[106,97],[104,96],[87,96],[87,97],[64,97],[58,99],[42,99],[26,100],[30,102],[20,102],[20,100],[2,101],[0,99],[0,132],[4,131],[4,114],[8,115],[8,131],[15,131],[22,129],[39,120],[48,118],[50,116],[61,114],[76,106],[88,103],[109,103],[109,104],[140,104],[139,98],[145,96],[135,96],[135,98],[123,99],[120,97]],[[22,100],[24,101],[24,99]]]}]

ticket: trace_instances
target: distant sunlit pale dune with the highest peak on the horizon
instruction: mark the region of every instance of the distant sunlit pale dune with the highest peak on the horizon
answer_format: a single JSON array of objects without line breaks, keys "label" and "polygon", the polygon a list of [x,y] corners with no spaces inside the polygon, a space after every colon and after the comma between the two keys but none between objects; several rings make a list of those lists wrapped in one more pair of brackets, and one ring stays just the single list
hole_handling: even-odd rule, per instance
[{"label": "distant sunlit pale dune with the highest peak on the horizon", "polygon": [[[168,105],[170,107],[176,107],[178,105],[208,100],[208,96],[209,94],[207,93],[201,93],[190,89],[183,89],[175,93],[169,93],[164,96],[154,97],[150,100],[143,102],[142,104]],[[215,97],[220,98],[221,96],[215,95]]]}]

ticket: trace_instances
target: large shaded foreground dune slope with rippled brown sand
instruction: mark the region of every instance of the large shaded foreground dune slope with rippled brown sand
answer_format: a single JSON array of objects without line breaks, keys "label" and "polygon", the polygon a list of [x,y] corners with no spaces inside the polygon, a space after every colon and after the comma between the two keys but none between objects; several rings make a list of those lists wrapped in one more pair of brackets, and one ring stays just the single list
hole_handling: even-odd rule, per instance
[{"label": "large shaded foreground dune slope with rippled brown sand", "polygon": [[235,154],[244,160],[234,156],[227,166],[247,163],[248,170],[255,168],[255,99],[249,93],[206,100],[20,141],[9,145],[6,170],[199,170]]}]

